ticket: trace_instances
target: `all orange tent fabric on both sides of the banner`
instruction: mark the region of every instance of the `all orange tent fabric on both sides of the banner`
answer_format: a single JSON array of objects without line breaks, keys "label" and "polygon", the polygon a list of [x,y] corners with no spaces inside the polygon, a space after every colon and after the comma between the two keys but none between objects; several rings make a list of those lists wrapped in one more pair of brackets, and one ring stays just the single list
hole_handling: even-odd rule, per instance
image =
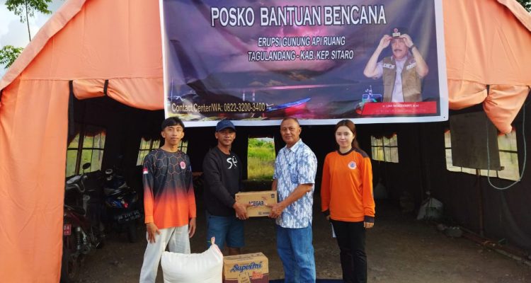
[{"label": "all orange tent fabric on both sides of the banner", "polygon": [[[498,2],[443,0],[447,74],[452,109],[483,102],[508,132],[531,85],[531,16]],[[59,281],[69,81],[78,98],[163,109],[158,1],[69,0],[1,79],[3,282]]]}]

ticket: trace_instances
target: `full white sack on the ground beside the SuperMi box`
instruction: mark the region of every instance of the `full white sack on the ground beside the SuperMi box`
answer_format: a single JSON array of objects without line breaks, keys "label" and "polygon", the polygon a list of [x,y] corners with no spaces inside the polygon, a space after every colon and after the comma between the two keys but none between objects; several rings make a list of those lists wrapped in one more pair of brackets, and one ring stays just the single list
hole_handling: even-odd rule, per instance
[{"label": "full white sack on the ground beside the SuperMi box", "polygon": [[223,254],[215,244],[203,253],[164,252],[161,266],[164,283],[220,283]]}]

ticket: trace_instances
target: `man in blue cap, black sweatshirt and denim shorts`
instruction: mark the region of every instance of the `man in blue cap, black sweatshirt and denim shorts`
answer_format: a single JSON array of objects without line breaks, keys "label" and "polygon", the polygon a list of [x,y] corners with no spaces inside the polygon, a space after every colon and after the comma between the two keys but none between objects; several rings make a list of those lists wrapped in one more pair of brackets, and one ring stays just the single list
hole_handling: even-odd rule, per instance
[{"label": "man in blue cap, black sweatshirt and denim shorts", "polygon": [[241,191],[241,161],[232,151],[236,127],[229,120],[217,123],[217,146],[202,161],[205,178],[205,209],[207,216],[207,241],[215,237],[219,249],[227,243],[229,255],[239,255],[244,246],[244,219],[248,219],[248,204],[234,200]]}]

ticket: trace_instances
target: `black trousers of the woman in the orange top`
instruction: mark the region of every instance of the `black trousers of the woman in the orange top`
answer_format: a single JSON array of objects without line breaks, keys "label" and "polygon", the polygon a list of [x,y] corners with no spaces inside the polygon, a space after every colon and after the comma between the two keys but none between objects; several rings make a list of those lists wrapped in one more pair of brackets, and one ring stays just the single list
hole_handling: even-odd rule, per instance
[{"label": "black trousers of the woman in the orange top", "polygon": [[346,283],[366,283],[367,255],[365,254],[363,221],[331,221],[338,240],[343,281]]}]

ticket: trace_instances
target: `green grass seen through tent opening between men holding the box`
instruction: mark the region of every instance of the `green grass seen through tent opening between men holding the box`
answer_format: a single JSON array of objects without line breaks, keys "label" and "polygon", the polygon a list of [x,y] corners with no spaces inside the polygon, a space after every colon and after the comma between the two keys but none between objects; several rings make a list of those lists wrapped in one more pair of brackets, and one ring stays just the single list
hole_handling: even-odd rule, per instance
[{"label": "green grass seen through tent opening between men holding the box", "polygon": [[271,180],[275,168],[273,139],[251,138],[247,151],[247,179]]}]

